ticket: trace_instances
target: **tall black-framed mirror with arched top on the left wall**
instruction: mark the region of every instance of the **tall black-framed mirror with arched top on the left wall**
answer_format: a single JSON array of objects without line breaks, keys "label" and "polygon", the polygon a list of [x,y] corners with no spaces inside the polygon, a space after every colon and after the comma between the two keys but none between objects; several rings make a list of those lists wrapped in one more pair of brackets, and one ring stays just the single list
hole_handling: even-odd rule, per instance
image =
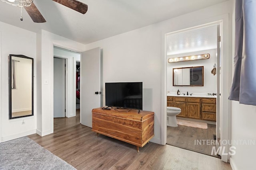
[{"label": "tall black-framed mirror with arched top on the left wall", "polygon": [[34,115],[34,59],[9,55],[9,119]]}]

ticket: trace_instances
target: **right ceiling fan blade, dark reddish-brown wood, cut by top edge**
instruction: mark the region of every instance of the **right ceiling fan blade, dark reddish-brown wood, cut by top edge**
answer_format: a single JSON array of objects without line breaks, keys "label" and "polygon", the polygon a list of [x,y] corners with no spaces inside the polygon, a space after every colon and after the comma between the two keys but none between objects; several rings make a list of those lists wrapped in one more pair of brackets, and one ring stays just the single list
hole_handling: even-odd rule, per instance
[{"label": "right ceiling fan blade, dark reddish-brown wood, cut by top edge", "polygon": [[62,4],[72,10],[85,14],[88,10],[88,5],[79,2],[78,0],[53,0],[59,4]]}]

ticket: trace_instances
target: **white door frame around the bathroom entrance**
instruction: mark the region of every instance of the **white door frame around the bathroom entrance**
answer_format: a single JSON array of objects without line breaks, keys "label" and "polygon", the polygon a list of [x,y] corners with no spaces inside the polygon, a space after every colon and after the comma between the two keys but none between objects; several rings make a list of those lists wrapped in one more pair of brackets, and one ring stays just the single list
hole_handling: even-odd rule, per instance
[{"label": "white door frame around the bathroom entrance", "polygon": [[[218,84],[221,88],[220,91],[222,91],[222,107],[220,108],[222,110],[222,114],[220,115],[220,133],[221,133],[221,139],[230,141],[231,139],[231,102],[228,100],[229,96],[229,88],[231,85],[231,79],[232,79],[232,66],[230,66],[231,59],[230,55],[232,54],[232,48],[230,48],[231,44],[231,33],[232,30],[230,30],[229,25],[231,24],[229,21],[229,15],[225,14],[222,16],[217,16],[215,18],[211,18],[205,21],[200,21],[199,23],[194,23],[195,25],[191,27],[187,27],[185,29],[180,29],[177,31],[168,31],[165,32],[162,31],[162,70],[161,70],[161,145],[166,145],[167,140],[167,124],[166,124],[166,106],[167,106],[167,99],[166,99],[166,80],[167,80],[167,57],[166,57],[166,34],[169,33],[177,33],[180,31],[185,30],[191,30],[198,27],[205,27],[209,25],[220,25],[220,36],[222,37],[221,41],[221,56],[222,56],[222,81],[221,84]],[[226,56],[226,57],[223,57]],[[216,127],[217,129],[217,127]],[[224,145],[226,144],[226,145]],[[227,143],[222,144],[222,148],[225,148],[223,151],[225,154],[222,154],[221,160],[224,162],[229,161],[230,155],[228,154],[228,149],[230,148],[230,145]]]}]

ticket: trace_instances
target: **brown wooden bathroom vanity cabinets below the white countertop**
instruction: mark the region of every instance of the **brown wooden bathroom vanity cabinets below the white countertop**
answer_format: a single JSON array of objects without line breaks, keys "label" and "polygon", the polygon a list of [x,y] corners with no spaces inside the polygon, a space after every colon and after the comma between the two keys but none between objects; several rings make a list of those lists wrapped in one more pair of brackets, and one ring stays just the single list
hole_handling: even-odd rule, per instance
[{"label": "brown wooden bathroom vanity cabinets below the white countertop", "polygon": [[216,121],[216,98],[213,96],[167,96],[167,106],[179,107],[178,117]]}]

